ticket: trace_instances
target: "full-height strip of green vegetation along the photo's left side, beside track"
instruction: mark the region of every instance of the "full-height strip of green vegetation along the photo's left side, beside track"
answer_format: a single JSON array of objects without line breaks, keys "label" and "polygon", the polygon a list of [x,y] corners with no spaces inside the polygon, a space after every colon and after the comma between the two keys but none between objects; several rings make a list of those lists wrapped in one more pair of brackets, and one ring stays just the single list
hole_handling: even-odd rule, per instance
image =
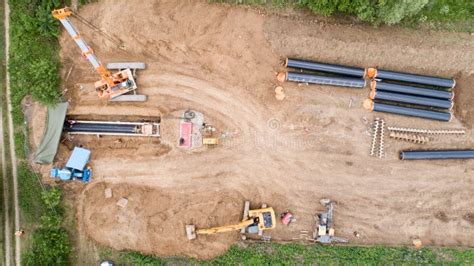
[{"label": "full-height strip of green vegetation along the photo's left side, beside track", "polygon": [[[43,223],[43,219],[51,218],[52,210],[42,201],[40,178],[28,167],[28,126],[21,109],[21,101],[26,95],[31,95],[46,106],[52,106],[60,100],[60,28],[59,23],[52,18],[51,10],[67,3],[69,1],[9,1],[9,74],[15,153],[18,158],[20,219],[22,229],[28,232],[22,241],[22,257],[26,265],[48,265],[52,262],[52,256],[58,258],[53,261],[55,264],[65,264],[69,255],[67,233],[60,226],[51,228]],[[41,223],[39,217],[45,217]],[[62,216],[52,219],[61,221]]]}]

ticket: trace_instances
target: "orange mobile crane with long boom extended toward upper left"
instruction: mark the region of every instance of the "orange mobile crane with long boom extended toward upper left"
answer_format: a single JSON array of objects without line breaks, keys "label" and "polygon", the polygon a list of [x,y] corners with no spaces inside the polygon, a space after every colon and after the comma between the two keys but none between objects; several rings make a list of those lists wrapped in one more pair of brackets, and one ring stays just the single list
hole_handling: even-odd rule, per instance
[{"label": "orange mobile crane with long boom extended toward upper left", "polygon": [[[95,56],[94,51],[84,41],[79,32],[71,23],[69,17],[73,15],[72,10],[69,7],[62,9],[55,9],[52,11],[53,17],[58,19],[64,26],[66,31],[71,35],[76,44],[82,51],[85,58],[92,64],[94,69],[99,73],[101,80],[95,83],[95,89],[102,99],[114,99],[122,94],[134,91],[137,88],[135,82],[134,71],[135,69],[145,68],[143,63],[113,63],[114,69],[119,71],[111,73]],[[133,72],[132,68],[133,67]],[[140,95],[141,96],[141,95]]]}]

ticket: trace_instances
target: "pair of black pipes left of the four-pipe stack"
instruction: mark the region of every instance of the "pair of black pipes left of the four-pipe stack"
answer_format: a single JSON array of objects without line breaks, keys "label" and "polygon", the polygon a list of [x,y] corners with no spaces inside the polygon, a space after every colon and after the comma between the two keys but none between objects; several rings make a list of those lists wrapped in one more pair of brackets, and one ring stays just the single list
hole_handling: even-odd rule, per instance
[{"label": "pair of black pipes left of the four-pipe stack", "polygon": [[365,69],[287,58],[285,66],[295,69],[280,73],[279,81],[293,81],[351,88],[365,87]]}]

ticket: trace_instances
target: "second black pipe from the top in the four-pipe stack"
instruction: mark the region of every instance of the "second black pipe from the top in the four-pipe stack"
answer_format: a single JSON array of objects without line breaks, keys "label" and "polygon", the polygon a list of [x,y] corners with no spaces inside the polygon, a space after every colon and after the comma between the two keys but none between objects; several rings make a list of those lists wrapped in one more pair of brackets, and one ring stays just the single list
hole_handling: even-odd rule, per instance
[{"label": "second black pipe from the top in the four-pipe stack", "polygon": [[439,98],[439,99],[446,99],[446,100],[452,100],[454,98],[454,93],[450,91],[433,90],[429,88],[425,89],[425,88],[420,88],[420,87],[387,83],[387,82],[382,82],[382,81],[377,82],[375,80],[372,81],[371,87],[372,89],[374,90],[376,89],[378,91],[411,94],[411,95],[424,96],[424,97],[430,97],[430,98]]}]

